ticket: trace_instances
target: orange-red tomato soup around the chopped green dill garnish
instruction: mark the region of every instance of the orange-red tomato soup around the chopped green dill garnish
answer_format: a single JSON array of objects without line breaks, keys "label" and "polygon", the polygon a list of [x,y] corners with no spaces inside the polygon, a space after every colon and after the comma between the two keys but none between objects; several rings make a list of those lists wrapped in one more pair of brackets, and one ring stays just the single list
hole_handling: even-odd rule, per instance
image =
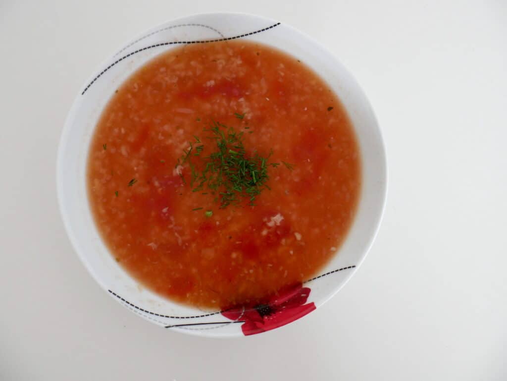
[{"label": "orange-red tomato soup around the chopped green dill garnish", "polygon": [[[237,197],[225,203],[224,183],[194,181],[220,131],[240,138],[241,162],[264,165],[253,197],[231,190]],[[223,152],[235,160],[235,150]],[[95,223],[120,265],[170,300],[219,309],[304,282],[337,253],[359,196],[360,155],[316,73],[238,40],[170,50],[128,78],[96,126],[87,176]]]}]

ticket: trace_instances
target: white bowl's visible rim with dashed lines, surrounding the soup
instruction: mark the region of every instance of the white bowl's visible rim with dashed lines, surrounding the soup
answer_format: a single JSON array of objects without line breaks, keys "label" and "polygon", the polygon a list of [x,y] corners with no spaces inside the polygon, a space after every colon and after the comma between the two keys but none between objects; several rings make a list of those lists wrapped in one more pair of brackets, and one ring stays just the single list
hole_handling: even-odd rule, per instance
[{"label": "white bowl's visible rim with dashed lines, surrounding the soup", "polygon": [[[313,68],[338,94],[357,135],[363,183],[356,216],[338,254],[319,276],[305,282],[303,290],[308,304],[319,307],[329,300],[363,262],[379,228],[387,188],[382,136],[368,99],[352,75],[330,52],[290,26],[246,14],[193,15],[166,22],[140,34],[104,61],[77,95],[61,135],[57,188],[67,234],[88,271],[113,299],[152,323],[203,336],[243,335],[241,325],[234,323],[247,320],[248,313],[232,318],[231,314],[226,314],[231,320],[220,311],[209,313],[172,303],[139,287],[108,252],[95,227],[86,191],[86,164],[90,140],[104,106],[118,86],[137,68],[182,44],[232,39],[271,45]],[[276,327],[301,315],[287,317]],[[269,326],[269,322],[258,323],[260,331],[276,328]],[[265,329],[262,328],[264,323]]]}]

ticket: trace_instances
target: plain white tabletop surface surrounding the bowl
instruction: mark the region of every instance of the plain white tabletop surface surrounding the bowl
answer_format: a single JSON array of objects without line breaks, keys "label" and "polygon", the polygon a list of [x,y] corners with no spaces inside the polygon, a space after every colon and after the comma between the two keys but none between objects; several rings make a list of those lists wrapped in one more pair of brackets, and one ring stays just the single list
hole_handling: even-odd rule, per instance
[{"label": "plain white tabletop surface surrounding the bowl", "polygon": [[[242,11],[310,34],[384,132],[386,213],[363,266],[292,325],[230,340],[152,325],[70,247],[55,161],[67,111],[155,24]],[[507,2],[0,0],[0,379],[507,380]]]}]

